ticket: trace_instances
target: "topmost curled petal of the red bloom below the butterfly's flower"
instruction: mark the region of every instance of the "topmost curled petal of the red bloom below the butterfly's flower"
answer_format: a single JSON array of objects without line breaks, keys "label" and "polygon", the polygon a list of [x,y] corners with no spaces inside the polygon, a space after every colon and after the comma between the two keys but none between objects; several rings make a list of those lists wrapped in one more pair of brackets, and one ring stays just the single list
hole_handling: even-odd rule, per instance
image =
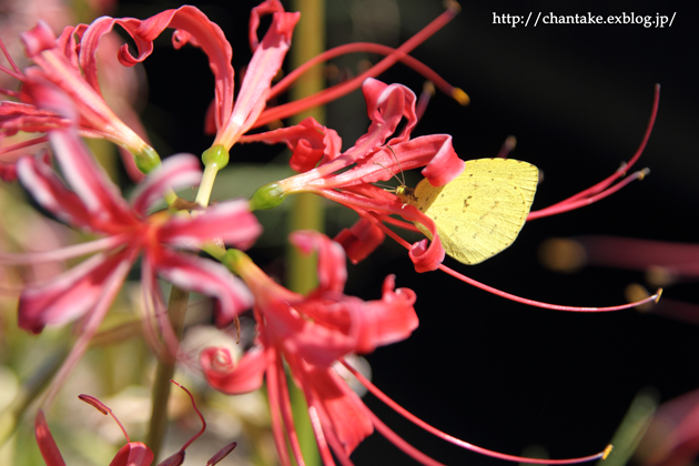
[{"label": "topmost curled petal of the red bloom below the butterfly's flower", "polygon": [[318,253],[318,291],[342,292],[347,281],[345,252],[342,246],[322,233],[297,231],[290,235],[290,241],[302,252]]}]

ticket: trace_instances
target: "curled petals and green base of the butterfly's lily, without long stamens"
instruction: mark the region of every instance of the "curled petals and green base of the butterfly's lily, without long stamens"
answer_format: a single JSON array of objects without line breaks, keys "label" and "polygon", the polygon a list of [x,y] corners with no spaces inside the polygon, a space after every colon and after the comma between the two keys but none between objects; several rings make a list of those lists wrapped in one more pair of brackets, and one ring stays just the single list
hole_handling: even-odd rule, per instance
[{"label": "curled petals and green base of the butterfly's lily, without long stamens", "polygon": [[[396,223],[388,215],[401,215],[409,222],[424,224],[434,241],[426,240],[411,247],[411,259],[418,272],[435,270],[444,260],[432,219],[373,183],[386,181],[401,170],[424,166],[422,174],[435,186],[452,181],[464,170],[464,162],[452,146],[448,134],[411,138],[417,123],[415,94],[401,84],[387,85],[367,79],[362,90],[372,124],[355,145],[340,152],[341,141],[335,131],[306,119],[296,126],[249,136],[267,143],[286,142],[293,150],[291,166],[301,171],[295,176],[261,188],[252,197],[253,209],[274,206],[284,196],[298,192],[313,192],[354,209],[371,230],[377,221]],[[405,125],[397,133],[402,121]],[[316,166],[317,164],[317,166]],[[352,169],[343,171],[351,165]],[[315,168],[314,168],[315,166]],[[414,230],[414,226],[399,222]],[[369,233],[371,234],[371,233]],[[365,251],[364,251],[365,252]],[[356,257],[352,257],[356,260]]]}]

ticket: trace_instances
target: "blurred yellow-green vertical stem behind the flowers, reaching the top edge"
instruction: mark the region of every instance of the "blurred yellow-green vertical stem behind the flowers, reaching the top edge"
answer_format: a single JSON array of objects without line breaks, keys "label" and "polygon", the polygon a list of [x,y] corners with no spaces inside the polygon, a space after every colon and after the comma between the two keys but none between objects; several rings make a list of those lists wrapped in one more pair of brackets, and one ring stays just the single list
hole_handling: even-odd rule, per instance
[{"label": "blurred yellow-green vertical stem behind the flowers, reaching the top edge", "polygon": [[[301,12],[301,20],[294,30],[293,45],[291,48],[292,67],[297,68],[325,50],[325,1],[292,0],[291,10]],[[323,69],[322,67],[315,67],[298,78],[298,81],[291,89],[291,99],[297,100],[324,88]],[[298,114],[294,118],[293,123],[298,123],[306,116],[313,116],[320,123],[324,123],[325,108],[320,107]],[[291,211],[290,231],[324,230],[325,216],[320,196],[303,193],[293,196],[292,200],[294,204]],[[307,293],[317,285],[315,257],[303,256],[296,249],[290,247],[287,250],[287,264],[286,283],[290,290],[297,293]],[[288,386],[296,433],[298,434],[304,459],[307,466],[320,465],[321,458],[308,419],[305,397],[293,382],[290,381]]]}]

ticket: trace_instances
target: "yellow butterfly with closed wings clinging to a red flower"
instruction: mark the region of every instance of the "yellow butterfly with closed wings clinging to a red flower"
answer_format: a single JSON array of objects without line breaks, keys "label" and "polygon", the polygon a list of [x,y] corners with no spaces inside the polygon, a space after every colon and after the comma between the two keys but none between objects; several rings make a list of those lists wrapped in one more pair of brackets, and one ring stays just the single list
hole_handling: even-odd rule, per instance
[{"label": "yellow butterfly with closed wings clinging to a red flower", "polygon": [[[448,255],[478,264],[507,249],[521,230],[536,193],[539,171],[511,159],[466,161],[464,172],[444,186],[426,179],[413,190],[396,189],[404,204],[430,217]],[[415,225],[429,239],[422,223]]]}]

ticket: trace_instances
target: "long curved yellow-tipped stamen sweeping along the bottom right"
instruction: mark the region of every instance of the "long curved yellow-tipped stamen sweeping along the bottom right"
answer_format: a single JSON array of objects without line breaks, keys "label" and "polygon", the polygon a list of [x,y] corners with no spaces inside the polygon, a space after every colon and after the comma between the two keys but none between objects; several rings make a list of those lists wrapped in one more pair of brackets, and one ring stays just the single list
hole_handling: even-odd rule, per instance
[{"label": "long curved yellow-tipped stamen sweeping along the bottom right", "polygon": [[429,432],[430,434],[433,434],[433,435],[435,435],[435,436],[437,436],[437,437],[439,437],[439,438],[442,438],[444,440],[447,440],[447,442],[449,442],[449,443],[452,443],[454,445],[457,445],[459,447],[469,449],[472,452],[480,453],[480,454],[486,455],[486,456],[492,456],[494,458],[505,459],[505,460],[508,460],[508,462],[529,463],[529,464],[539,464],[539,465],[569,465],[569,464],[585,463],[585,462],[591,462],[591,460],[595,460],[595,459],[605,458],[605,457],[607,457],[607,455],[611,450],[611,445],[608,445],[602,452],[597,453],[595,455],[582,456],[582,457],[579,457],[579,458],[570,458],[570,459],[528,458],[528,457],[524,457],[524,456],[515,456],[515,455],[507,455],[507,454],[504,454],[504,453],[493,452],[490,449],[483,448],[483,447],[469,444],[468,442],[464,442],[464,440],[462,440],[459,438],[453,437],[449,434],[446,434],[446,433],[444,433],[444,432],[442,432],[442,430],[430,426],[429,424],[427,424],[424,421],[419,419],[418,417],[416,417],[415,415],[413,415],[412,413],[406,411],[404,407],[398,405],[396,402],[391,399],[385,393],[379,391],[376,387],[376,385],[372,384],[372,382],[369,379],[364,377],[364,375],[362,375],[358,371],[356,371],[354,367],[352,367],[345,359],[340,359],[340,362],[347,368],[347,371],[350,371],[362,383],[362,385],[364,385],[369,392],[372,392],[372,394],[374,396],[376,396],[378,399],[381,399],[386,405],[388,405],[393,411],[395,411],[396,413],[398,413],[399,415],[402,415],[403,417],[405,417],[406,419],[408,419],[413,424],[415,424],[415,425],[424,428],[425,430]]}]

